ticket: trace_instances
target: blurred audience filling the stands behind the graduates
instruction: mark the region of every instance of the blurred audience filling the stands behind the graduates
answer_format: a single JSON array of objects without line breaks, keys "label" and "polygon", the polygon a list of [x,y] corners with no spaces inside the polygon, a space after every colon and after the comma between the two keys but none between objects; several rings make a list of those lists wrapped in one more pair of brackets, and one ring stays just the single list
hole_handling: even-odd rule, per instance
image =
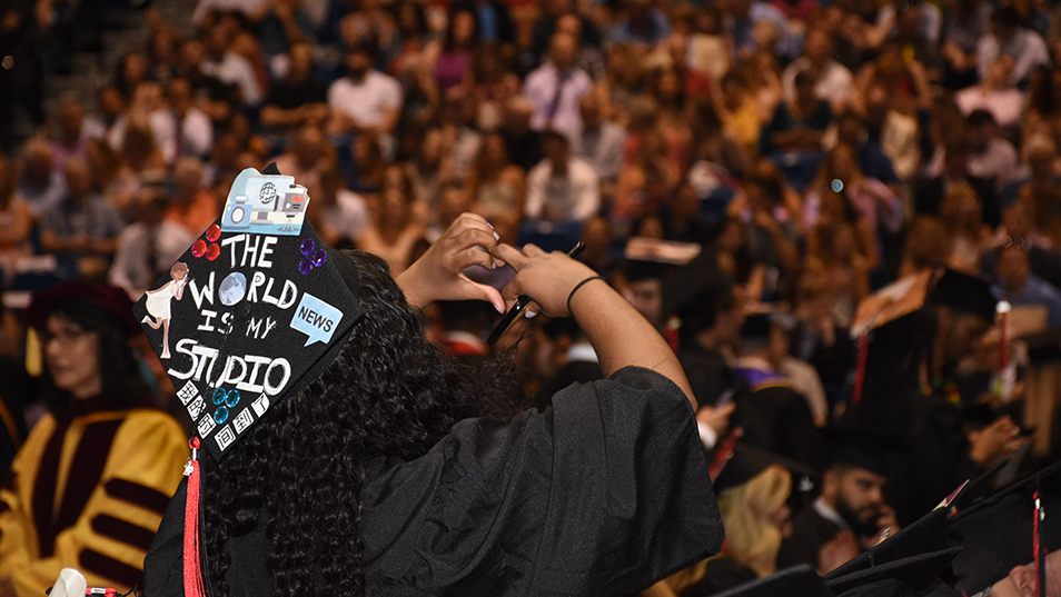
[{"label": "blurred audience filling the stands behind the graduates", "polygon": [[[994,301],[1024,308],[1023,331],[1061,326],[1054,2],[200,0],[195,34],[150,8],[122,8],[146,11],[147,44],[108,64],[95,98],[60,97],[42,113],[40,73],[92,49],[113,10],[0,8],[0,350],[12,380],[33,348],[12,315],[20,297],[87,279],[136,300],[220,215],[240,170],[276,162],[309,189],[308,218],[326,243],[376,253],[395,275],[467,211],[514,245],[567,250],[583,239],[581,259],[672,340],[704,388],[708,447],[736,422],[755,428],[731,405],[764,384],[800,398],[763,398],[780,420],[805,419],[817,434],[844,420],[863,381],[870,401],[892,388],[874,381],[891,371],[899,390],[939,396],[958,414],[940,448],[953,459],[941,466],[961,461],[953,470],[974,475],[1028,451],[1012,405],[1032,364],[1010,346],[1014,330],[995,324]],[[71,24],[81,13],[97,17]],[[18,138],[34,119],[32,136]],[[697,252],[711,263],[675,275]],[[872,349],[860,366],[859,304],[944,269],[982,283],[986,310],[941,295],[950,310],[933,314],[919,366],[896,357],[894,369],[874,369]],[[980,319],[964,326],[959,311]],[[455,354],[495,351],[484,341],[498,318],[489,306],[428,316]],[[513,352],[528,395],[547,401],[562,381],[591,375],[572,368],[593,360],[576,329],[523,326]],[[905,355],[914,336],[880,341]],[[166,405],[175,390],[141,352]],[[4,400],[34,404],[24,379],[4,384]],[[879,430],[922,420],[898,411],[901,421]],[[938,429],[911,432],[938,439]],[[807,447],[816,439],[790,436],[763,447],[787,452],[789,441],[800,464],[833,470],[825,448]],[[792,472],[770,489],[781,501],[797,492]],[[904,469],[893,490],[915,492],[919,474]],[[886,478],[871,479],[861,544],[880,535],[879,518],[895,517]],[[823,490],[835,496],[837,479]],[[892,501],[910,521],[943,495]],[[747,503],[731,497],[724,516]],[[776,561],[761,556],[737,560],[765,576]]]}]

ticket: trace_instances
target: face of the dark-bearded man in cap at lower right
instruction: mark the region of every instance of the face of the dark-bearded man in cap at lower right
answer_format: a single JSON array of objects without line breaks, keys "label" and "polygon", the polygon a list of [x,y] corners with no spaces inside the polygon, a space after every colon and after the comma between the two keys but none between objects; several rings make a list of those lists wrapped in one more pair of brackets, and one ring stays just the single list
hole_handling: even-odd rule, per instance
[{"label": "face of the dark-bearded man in cap at lower right", "polygon": [[822,498],[856,535],[871,535],[877,530],[886,482],[886,478],[864,468],[834,467],[825,472]]}]

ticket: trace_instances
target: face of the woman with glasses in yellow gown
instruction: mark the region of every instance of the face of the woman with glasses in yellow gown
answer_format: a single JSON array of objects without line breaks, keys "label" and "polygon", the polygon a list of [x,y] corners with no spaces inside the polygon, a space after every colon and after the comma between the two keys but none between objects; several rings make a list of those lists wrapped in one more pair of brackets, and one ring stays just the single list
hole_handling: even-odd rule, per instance
[{"label": "face of the woman with glasses in yellow gown", "polygon": [[91,398],[102,391],[98,334],[81,328],[62,315],[53,315],[44,326],[41,348],[56,388],[75,398]]}]

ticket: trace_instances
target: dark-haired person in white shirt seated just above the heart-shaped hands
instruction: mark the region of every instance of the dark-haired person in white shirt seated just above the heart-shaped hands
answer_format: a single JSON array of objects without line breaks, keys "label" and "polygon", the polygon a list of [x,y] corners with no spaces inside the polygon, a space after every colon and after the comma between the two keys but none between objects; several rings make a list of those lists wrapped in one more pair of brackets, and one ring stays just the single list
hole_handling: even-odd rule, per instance
[{"label": "dark-haired person in white shirt seated just above the heart-shaped hands", "polygon": [[601,208],[601,182],[593,167],[571,156],[567,137],[556,131],[542,136],[545,159],[527,175],[528,218],[585,221]]}]

